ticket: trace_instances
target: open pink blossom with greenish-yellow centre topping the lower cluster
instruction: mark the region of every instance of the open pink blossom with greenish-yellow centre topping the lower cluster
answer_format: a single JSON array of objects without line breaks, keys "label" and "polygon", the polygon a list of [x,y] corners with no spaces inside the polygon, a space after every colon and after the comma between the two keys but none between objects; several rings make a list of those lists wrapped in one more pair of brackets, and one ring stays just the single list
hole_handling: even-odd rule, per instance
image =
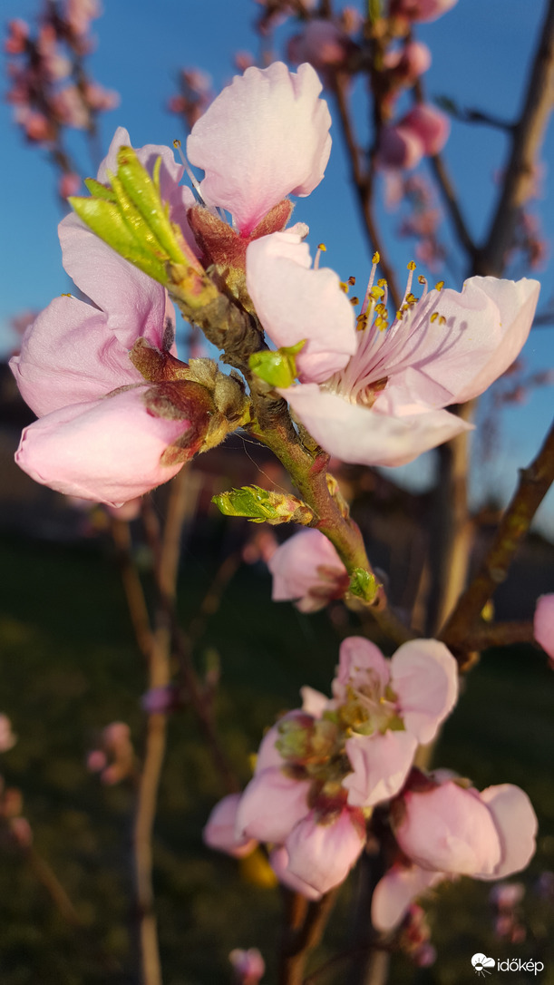
[{"label": "open pink blossom with greenish-yellow centre topping the lower cluster", "polygon": [[458,697],[456,660],[444,643],[403,643],[391,661],[362,636],[340,646],[333,682],[335,705],[348,722],[346,755],[352,772],[342,781],[348,804],[370,807],[393,797],[419,743],[428,743]]}]

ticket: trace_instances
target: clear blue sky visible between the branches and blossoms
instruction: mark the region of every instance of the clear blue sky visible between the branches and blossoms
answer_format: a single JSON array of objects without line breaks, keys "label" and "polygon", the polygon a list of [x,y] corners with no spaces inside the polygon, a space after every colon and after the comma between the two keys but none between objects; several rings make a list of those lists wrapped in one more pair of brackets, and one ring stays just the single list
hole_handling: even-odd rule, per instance
[{"label": "clear blue sky visible between the branches and blossoms", "polygon": [[[353,4],[352,4],[353,5]],[[37,0],[0,0],[2,22],[12,17],[32,19]],[[513,118],[519,112],[523,83],[545,8],[543,0],[459,0],[445,17],[421,25],[417,36],[433,52],[425,85],[430,97],[445,95],[461,105]],[[215,88],[234,73],[232,56],[238,50],[255,55],[258,42],[251,25],[259,7],[253,0],[104,0],[104,14],[93,23],[97,39],[90,59],[93,77],[121,95],[118,109],[103,115],[101,136],[107,147],[117,125],[126,126],[132,142],[170,144],[184,136],[179,120],[165,109],[175,92],[179,68],[207,70]],[[277,34],[283,38],[286,27]],[[361,85],[354,94],[356,122],[365,136],[366,102]],[[26,145],[11,123],[11,106],[0,105],[2,149],[0,178],[3,189],[3,233],[0,237],[0,352],[7,352],[12,338],[9,319],[24,308],[41,308],[53,296],[68,290],[60,263],[56,226],[60,219],[55,196],[55,177],[42,152]],[[332,131],[333,133],[333,131]],[[85,173],[92,172],[82,135],[72,134],[72,147]],[[473,234],[479,238],[494,206],[494,177],[502,168],[505,138],[497,130],[454,123],[445,151]],[[554,160],[554,127],[545,141],[542,160]],[[300,200],[295,218],[311,228],[310,241],[325,241],[326,262],[341,276],[356,276],[358,285],[367,278],[370,252],[355,212],[347,184],[347,171],[339,139],[325,180],[309,199]],[[543,229],[554,242],[554,208],[546,167],[545,197],[537,203]],[[398,240],[398,217],[380,208],[389,252],[404,277],[413,246]],[[551,247],[552,252],[552,247]],[[422,272],[426,273],[423,268]],[[465,274],[455,262],[447,283],[460,289]],[[550,256],[543,270],[534,274],[542,283],[541,304],[554,298],[554,263]],[[431,275],[432,277],[432,275]],[[436,278],[435,278],[436,279]],[[554,327],[531,333],[524,350],[529,370],[554,366]],[[552,417],[552,387],[535,390],[523,407],[503,412],[501,437],[494,459],[480,469],[475,494],[508,495],[518,467],[528,464]],[[476,442],[478,450],[478,442]],[[428,479],[430,459],[408,467],[406,481],[422,485]],[[400,470],[395,470],[400,475]],[[552,494],[542,507],[542,525],[554,534]]]}]

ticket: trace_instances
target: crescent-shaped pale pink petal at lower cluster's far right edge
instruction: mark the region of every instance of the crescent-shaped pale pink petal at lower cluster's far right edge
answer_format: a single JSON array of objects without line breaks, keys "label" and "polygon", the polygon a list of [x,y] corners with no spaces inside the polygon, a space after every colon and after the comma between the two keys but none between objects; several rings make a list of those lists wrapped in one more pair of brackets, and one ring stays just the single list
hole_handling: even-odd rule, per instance
[{"label": "crescent-shaped pale pink petal at lower cluster's far right edge", "polygon": [[537,820],[527,795],[512,783],[487,787],[481,791],[500,838],[502,857],[492,873],[479,873],[477,879],[504,879],[521,872],[534,855]]}]

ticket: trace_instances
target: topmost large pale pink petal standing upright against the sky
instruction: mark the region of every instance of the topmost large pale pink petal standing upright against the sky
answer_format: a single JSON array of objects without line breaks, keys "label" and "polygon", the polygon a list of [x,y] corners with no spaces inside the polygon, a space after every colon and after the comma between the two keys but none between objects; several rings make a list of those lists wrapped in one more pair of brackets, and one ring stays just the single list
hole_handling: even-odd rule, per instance
[{"label": "topmost large pale pink petal standing upright against the sky", "polygon": [[202,194],[244,235],[286,195],[309,195],[320,183],[331,153],[321,91],[311,65],[297,74],[282,62],[248,68],[195,123],[187,154],[205,171]]}]

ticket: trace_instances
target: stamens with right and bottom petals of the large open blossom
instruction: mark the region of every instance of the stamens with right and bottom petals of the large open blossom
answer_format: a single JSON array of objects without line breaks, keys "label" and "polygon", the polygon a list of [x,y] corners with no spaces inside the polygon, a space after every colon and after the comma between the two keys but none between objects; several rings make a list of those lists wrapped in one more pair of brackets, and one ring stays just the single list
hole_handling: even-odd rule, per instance
[{"label": "stamens with right and bottom petals of the large open blossom", "polygon": [[[371,283],[371,282],[370,282]],[[472,277],[462,294],[408,287],[393,325],[360,321],[358,348],[322,385],[278,392],[326,451],[342,461],[403,465],[466,426],[441,408],[482,393],[516,359],[528,335],[536,281]]]}]

